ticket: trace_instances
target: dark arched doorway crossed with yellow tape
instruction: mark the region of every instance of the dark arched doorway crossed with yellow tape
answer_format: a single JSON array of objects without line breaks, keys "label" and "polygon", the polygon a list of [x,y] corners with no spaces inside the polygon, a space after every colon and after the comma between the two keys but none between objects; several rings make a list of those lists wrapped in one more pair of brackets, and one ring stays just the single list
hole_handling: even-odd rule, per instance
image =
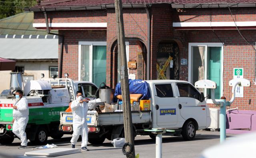
[{"label": "dark arched doorway crossed with yellow tape", "polygon": [[158,44],[156,66],[158,80],[179,80],[179,47],[176,42]]}]

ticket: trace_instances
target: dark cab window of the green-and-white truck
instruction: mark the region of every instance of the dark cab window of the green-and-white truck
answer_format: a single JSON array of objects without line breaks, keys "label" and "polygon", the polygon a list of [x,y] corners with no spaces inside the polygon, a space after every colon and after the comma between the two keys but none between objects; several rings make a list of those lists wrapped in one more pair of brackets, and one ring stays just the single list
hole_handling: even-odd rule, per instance
[{"label": "dark cab window of the green-and-white truck", "polygon": [[[78,84],[78,90],[83,92],[83,97],[93,98],[97,89],[98,88],[96,86],[94,86],[93,84]],[[97,96],[99,96],[99,95],[96,94],[96,97]]]}]

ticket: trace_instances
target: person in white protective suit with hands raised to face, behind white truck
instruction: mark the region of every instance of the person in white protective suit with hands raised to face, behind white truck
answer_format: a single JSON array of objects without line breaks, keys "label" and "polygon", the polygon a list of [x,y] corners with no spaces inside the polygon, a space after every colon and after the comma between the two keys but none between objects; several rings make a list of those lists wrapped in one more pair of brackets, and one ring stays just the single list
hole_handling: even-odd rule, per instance
[{"label": "person in white protective suit with hands raised to face, behind white truck", "polygon": [[79,136],[82,135],[81,149],[86,151],[88,151],[88,129],[86,121],[88,111],[88,106],[86,104],[87,102],[88,100],[82,99],[82,92],[77,91],[76,100],[73,100],[70,106],[73,114],[73,135],[70,140],[71,148],[75,148]]}]

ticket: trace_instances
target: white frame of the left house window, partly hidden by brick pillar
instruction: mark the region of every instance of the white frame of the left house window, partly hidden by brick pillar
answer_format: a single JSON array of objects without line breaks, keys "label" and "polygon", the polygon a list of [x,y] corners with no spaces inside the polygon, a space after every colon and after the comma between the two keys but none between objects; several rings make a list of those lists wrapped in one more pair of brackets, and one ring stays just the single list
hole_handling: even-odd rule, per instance
[{"label": "white frame of the left house window, partly hidden by brick pillar", "polygon": [[[93,42],[93,41],[79,41],[78,42],[78,80],[81,81],[81,53],[82,45],[89,45],[89,81],[92,82],[92,48],[93,46],[106,46],[107,42]],[[125,42],[126,45],[126,58],[129,61],[129,42]]]}]

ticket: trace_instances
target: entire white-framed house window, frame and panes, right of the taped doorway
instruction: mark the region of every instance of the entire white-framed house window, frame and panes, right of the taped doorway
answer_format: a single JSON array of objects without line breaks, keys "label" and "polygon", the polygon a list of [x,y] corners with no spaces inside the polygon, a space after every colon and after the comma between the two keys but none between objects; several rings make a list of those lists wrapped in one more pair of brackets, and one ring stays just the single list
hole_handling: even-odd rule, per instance
[{"label": "entire white-framed house window, frame and panes, right of the taped doorway", "polygon": [[[222,43],[190,43],[189,44],[188,80],[193,85],[198,80],[212,80],[216,82],[215,99],[220,99],[223,92],[223,45]],[[208,99],[210,90],[199,89]]]}]

